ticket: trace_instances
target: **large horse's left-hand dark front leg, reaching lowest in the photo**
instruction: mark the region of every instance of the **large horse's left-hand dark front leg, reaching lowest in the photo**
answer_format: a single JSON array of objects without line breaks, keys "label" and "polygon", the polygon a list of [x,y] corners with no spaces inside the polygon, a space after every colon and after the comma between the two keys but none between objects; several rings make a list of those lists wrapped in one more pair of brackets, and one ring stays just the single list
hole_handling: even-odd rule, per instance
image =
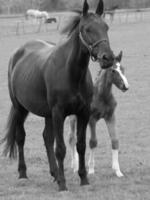
[{"label": "large horse's left-hand dark front leg, reaching lowest in the photo", "polygon": [[67,190],[66,180],[64,176],[64,158],[66,155],[66,146],[63,136],[64,119],[63,111],[58,106],[55,106],[52,111],[53,116],[53,131],[56,139],[55,155],[58,163],[57,183],[59,191]]}]

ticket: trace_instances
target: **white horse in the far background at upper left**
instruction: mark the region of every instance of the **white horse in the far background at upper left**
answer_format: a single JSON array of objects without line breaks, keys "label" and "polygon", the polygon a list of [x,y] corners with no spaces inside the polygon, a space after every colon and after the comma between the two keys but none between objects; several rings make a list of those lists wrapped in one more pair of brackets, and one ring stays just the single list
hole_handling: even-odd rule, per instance
[{"label": "white horse in the far background at upper left", "polygon": [[46,19],[49,18],[49,14],[46,11],[29,9],[29,10],[26,11],[25,17],[26,17],[26,19],[31,18],[31,19],[36,19],[36,20],[39,20],[39,19],[46,20]]}]

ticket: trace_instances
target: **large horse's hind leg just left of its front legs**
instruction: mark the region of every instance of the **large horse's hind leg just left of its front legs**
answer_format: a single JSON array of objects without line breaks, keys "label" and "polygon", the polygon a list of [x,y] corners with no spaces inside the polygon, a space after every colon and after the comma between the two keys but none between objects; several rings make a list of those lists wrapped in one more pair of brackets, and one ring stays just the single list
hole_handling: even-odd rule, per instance
[{"label": "large horse's hind leg just left of its front legs", "polygon": [[43,131],[43,138],[46,147],[50,174],[57,180],[58,175],[58,167],[56,164],[56,158],[54,154],[54,132],[53,132],[53,124],[52,118],[45,118],[45,128]]}]

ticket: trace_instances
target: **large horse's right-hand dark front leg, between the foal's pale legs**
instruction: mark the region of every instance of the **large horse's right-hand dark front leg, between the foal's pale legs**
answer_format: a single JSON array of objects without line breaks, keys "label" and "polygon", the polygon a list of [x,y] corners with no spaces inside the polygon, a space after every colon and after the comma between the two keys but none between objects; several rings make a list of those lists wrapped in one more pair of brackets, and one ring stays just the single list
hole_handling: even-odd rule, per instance
[{"label": "large horse's right-hand dark front leg, between the foal's pale legs", "polygon": [[77,152],[79,154],[78,174],[81,179],[81,185],[89,184],[85,168],[86,128],[88,120],[89,113],[86,113],[86,111],[77,116]]}]

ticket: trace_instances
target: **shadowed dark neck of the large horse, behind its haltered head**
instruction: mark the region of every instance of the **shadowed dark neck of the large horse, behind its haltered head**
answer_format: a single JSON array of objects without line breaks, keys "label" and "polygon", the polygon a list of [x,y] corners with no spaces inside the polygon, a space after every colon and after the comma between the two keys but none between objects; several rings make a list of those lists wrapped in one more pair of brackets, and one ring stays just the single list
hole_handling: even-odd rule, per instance
[{"label": "shadowed dark neck of the large horse, behind its haltered head", "polygon": [[80,84],[85,81],[89,64],[89,53],[84,51],[79,36],[74,34],[71,38],[69,50],[68,68],[72,84]]}]

